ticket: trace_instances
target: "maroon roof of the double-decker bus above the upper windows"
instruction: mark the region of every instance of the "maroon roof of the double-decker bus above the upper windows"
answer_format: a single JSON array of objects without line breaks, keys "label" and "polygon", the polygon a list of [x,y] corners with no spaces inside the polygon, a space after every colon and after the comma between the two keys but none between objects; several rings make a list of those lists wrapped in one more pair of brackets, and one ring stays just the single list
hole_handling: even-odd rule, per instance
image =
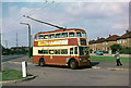
[{"label": "maroon roof of the double-decker bus above the upper windows", "polygon": [[85,32],[84,29],[80,29],[80,28],[68,28],[68,29],[56,29],[56,30],[51,30],[51,32],[40,32],[40,33],[37,33],[36,35],[39,35],[39,34],[50,34],[50,33],[59,33],[59,32],[70,32],[70,30]]}]

